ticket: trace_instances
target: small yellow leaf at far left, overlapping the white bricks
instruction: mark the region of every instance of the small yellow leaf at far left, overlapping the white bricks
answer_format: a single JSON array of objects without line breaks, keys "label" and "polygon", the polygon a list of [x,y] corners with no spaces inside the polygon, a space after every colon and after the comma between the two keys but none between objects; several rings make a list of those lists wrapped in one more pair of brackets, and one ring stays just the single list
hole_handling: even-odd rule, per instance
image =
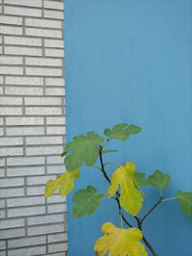
[{"label": "small yellow leaf at far left, overlapping the white bricks", "polygon": [[79,168],[73,171],[66,171],[55,180],[49,180],[45,186],[45,196],[51,196],[60,187],[61,196],[67,195],[74,188],[74,179],[79,178]]}]

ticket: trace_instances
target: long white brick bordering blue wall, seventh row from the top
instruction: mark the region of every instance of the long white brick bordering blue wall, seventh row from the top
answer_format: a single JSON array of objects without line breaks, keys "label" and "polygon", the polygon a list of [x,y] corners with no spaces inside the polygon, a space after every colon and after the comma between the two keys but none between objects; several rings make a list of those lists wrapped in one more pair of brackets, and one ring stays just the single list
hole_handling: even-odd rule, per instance
[{"label": "long white brick bordering blue wall, seventh row from the top", "polygon": [[46,66],[61,66],[62,61],[60,59],[51,59],[51,58],[34,58],[27,57],[26,64],[29,65],[46,65]]}]

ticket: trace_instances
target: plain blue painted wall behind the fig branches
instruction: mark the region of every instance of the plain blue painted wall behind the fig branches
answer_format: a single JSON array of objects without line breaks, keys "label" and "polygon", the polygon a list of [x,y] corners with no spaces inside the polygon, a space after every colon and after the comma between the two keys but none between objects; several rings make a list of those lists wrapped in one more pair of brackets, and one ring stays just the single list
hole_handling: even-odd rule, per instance
[{"label": "plain blue painted wall behind the fig branches", "polygon": [[[169,173],[167,196],[192,189],[191,8],[184,0],[65,1],[67,141],[119,122],[140,125],[139,135],[110,144],[122,150],[110,157]],[[81,176],[77,189],[107,191],[96,169],[85,167]],[[148,198],[141,215],[158,193],[148,189]],[[73,219],[68,199],[69,256],[93,256],[101,225],[119,225],[116,206],[104,199],[95,215]],[[146,219],[144,231],[159,256],[191,256],[191,223],[170,201]]]}]

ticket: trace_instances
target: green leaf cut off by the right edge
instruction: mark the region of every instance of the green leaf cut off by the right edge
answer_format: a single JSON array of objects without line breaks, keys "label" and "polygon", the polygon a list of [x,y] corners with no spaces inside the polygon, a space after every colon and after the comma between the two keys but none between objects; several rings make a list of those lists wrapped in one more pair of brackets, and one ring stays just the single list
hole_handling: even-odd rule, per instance
[{"label": "green leaf cut off by the right edge", "polygon": [[192,192],[180,192],[178,191],[179,197],[176,201],[180,202],[180,208],[187,216],[192,217]]}]

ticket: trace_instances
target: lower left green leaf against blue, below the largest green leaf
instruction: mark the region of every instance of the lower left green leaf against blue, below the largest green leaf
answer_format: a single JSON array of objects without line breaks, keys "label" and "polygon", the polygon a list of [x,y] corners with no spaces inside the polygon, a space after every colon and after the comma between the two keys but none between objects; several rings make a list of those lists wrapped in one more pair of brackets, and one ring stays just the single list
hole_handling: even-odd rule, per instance
[{"label": "lower left green leaf against blue, below the largest green leaf", "polygon": [[73,218],[92,215],[100,205],[100,200],[105,194],[98,193],[92,186],[87,186],[84,190],[75,192],[73,196]]}]

